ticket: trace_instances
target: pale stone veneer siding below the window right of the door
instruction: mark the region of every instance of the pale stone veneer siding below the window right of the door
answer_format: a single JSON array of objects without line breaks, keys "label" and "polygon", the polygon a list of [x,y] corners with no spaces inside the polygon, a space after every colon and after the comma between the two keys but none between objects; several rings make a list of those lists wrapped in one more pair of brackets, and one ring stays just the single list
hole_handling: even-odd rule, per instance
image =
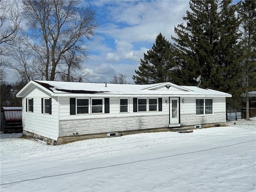
[{"label": "pale stone veneer siding below the window right of the door", "polygon": [[180,126],[194,126],[226,122],[226,113],[214,113],[213,115],[199,116],[195,114],[180,114]]}]

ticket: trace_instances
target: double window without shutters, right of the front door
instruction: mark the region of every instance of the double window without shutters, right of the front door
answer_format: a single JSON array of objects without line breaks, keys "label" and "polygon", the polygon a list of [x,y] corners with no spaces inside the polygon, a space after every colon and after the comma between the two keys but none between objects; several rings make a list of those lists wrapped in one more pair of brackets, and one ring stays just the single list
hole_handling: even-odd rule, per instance
[{"label": "double window without shutters, right of the front door", "polygon": [[196,115],[213,114],[212,99],[196,99]]}]

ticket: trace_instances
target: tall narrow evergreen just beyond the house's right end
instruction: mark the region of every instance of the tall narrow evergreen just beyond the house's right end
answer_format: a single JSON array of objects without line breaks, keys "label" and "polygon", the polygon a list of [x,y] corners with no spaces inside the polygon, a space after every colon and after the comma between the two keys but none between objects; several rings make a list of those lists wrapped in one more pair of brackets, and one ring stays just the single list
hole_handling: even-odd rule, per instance
[{"label": "tall narrow evergreen just beyond the house's right end", "polygon": [[[218,90],[232,94],[235,112],[240,107],[242,94],[242,70],[240,66],[239,20],[236,16],[237,5],[232,1],[220,2],[219,24],[220,42],[218,44],[218,67],[220,68],[220,86]],[[237,118],[237,114],[236,114]]]}]

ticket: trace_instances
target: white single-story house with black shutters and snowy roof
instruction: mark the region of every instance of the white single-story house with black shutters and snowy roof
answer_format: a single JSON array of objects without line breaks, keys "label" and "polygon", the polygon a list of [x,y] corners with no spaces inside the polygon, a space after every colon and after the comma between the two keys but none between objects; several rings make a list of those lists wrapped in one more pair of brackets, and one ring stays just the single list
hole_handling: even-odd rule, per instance
[{"label": "white single-story house with black shutters and snowy roof", "polygon": [[23,134],[62,144],[226,122],[230,94],[170,82],[137,85],[31,80],[22,97]]}]

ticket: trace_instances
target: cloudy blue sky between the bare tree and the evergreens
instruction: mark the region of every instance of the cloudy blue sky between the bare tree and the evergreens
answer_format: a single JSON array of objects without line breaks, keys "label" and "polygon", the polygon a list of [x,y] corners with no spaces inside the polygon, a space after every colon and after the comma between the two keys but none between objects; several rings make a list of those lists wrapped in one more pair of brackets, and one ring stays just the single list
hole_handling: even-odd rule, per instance
[{"label": "cloudy blue sky between the bare tree and the evergreens", "polygon": [[189,1],[82,1],[96,10],[97,36],[88,42],[90,60],[84,68],[90,82],[109,82],[119,73],[134,83],[140,58],[161,32],[171,41],[174,26],[182,23]]}]

